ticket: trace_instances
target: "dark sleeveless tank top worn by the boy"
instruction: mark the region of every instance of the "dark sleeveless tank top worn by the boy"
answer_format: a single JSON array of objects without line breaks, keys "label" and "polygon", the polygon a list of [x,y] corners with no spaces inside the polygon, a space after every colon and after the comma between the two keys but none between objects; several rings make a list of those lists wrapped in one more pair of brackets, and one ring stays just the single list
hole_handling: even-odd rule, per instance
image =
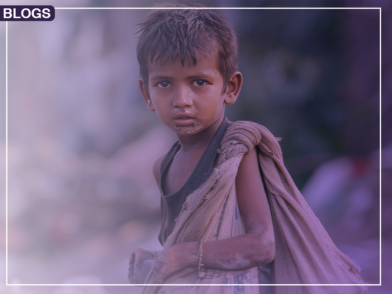
[{"label": "dark sleeveless tank top worn by the boy", "polygon": [[162,191],[166,190],[166,176],[170,166],[172,165],[174,155],[181,148],[179,141],[173,145],[163,159],[161,164],[161,181],[159,183],[159,188],[161,190],[161,232],[159,233],[158,239],[161,245],[163,245],[169,235],[172,234],[175,219],[180,214],[182,204],[184,204],[186,197],[197,190],[203,181],[210,176],[214,168],[215,161],[218,158],[218,149],[221,146],[221,141],[230,124],[231,122],[229,122],[226,118],[223,119],[223,122],[201,156],[189,179],[177,192],[170,195],[164,195]]}]

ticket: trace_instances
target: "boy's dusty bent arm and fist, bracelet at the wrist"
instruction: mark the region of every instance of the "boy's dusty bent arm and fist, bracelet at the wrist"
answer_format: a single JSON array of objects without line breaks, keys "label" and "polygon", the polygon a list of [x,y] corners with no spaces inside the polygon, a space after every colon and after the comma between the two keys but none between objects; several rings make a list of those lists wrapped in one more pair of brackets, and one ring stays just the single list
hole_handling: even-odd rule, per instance
[{"label": "boy's dusty bent arm and fist, bracelet at the wrist", "polygon": [[[238,206],[245,234],[206,242],[201,263],[204,268],[246,270],[269,263],[275,246],[270,206],[261,179],[257,152],[245,154],[236,178]],[[199,243],[187,242],[164,249],[154,258],[154,280],[161,284],[172,273],[199,263]]]}]

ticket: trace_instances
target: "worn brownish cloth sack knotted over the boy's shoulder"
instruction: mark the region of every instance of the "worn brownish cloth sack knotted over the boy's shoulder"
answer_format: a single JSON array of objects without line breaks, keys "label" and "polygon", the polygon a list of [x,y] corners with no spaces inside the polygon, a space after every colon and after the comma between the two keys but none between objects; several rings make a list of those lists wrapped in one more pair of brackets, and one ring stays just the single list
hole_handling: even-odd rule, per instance
[{"label": "worn brownish cloth sack knotted over the boy's shoulder", "polygon": [[[332,242],[325,229],[294,185],[283,165],[282,152],[270,131],[257,123],[236,122],[222,140],[217,168],[210,178],[189,195],[164,248],[182,242],[213,241],[244,233],[238,211],[235,178],[245,153],[254,146],[267,186],[275,235],[274,284],[361,284],[356,286],[274,286],[276,294],[365,294],[367,286],[359,266]],[[209,273],[208,273],[209,271]],[[256,284],[256,269],[245,271],[208,270],[199,278],[197,269],[186,269],[165,280],[168,284],[230,284],[241,277]],[[147,284],[154,284],[152,273]],[[258,293],[257,286],[145,286],[150,293]],[[236,288],[237,287],[237,288]],[[257,287],[256,289],[254,289]]]}]

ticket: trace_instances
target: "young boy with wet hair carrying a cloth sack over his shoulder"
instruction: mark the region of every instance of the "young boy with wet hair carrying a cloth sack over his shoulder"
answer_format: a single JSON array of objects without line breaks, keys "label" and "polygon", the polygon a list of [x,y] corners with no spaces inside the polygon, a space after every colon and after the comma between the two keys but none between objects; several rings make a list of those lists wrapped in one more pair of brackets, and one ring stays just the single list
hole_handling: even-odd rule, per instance
[{"label": "young boy with wet hair carrying a cloth sack over his shoulder", "polygon": [[[143,288],[233,294],[259,293],[258,286],[243,284],[363,284],[357,265],[336,248],[296,189],[272,134],[224,118],[225,104],[236,101],[243,82],[230,26],[203,6],[187,4],[153,10],[141,28],[140,91],[179,141],[153,166],[164,248],[132,252],[131,283],[239,285]],[[261,293],[270,290],[260,287]],[[273,291],[359,294],[367,288]]]}]

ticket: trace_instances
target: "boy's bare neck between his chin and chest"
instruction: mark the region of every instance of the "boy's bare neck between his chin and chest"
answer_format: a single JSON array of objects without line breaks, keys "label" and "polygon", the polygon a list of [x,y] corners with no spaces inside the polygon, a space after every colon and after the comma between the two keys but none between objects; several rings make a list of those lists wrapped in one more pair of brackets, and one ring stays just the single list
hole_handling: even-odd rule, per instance
[{"label": "boy's bare neck between his chin and chest", "polygon": [[196,148],[200,148],[203,146],[208,146],[217,132],[219,126],[223,122],[224,113],[222,113],[221,117],[212,123],[210,126],[201,130],[195,135],[192,136],[178,136],[178,140],[180,141],[181,150],[183,153],[193,151]]}]

